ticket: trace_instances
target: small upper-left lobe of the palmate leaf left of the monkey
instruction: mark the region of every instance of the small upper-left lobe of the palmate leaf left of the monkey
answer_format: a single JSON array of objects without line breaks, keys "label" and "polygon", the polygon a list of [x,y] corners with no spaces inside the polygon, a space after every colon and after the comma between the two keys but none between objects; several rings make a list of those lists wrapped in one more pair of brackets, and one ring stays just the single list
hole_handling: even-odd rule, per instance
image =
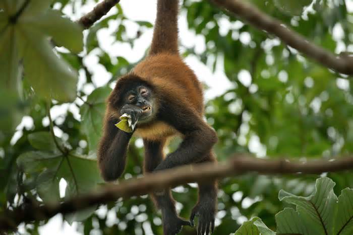
[{"label": "small upper-left lobe of the palmate leaf left of the monkey", "polygon": [[50,132],[40,131],[28,135],[29,143],[39,150],[57,150]]}]

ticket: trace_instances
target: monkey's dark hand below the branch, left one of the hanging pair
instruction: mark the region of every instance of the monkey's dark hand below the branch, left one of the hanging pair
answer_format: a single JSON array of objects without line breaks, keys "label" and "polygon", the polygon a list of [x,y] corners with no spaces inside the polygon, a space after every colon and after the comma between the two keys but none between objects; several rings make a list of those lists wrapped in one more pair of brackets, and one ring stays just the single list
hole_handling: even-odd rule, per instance
[{"label": "monkey's dark hand below the branch, left one of the hanging pair", "polygon": [[191,226],[190,221],[180,218],[172,210],[162,211],[162,220],[164,235],[175,235],[182,230],[184,225]]}]

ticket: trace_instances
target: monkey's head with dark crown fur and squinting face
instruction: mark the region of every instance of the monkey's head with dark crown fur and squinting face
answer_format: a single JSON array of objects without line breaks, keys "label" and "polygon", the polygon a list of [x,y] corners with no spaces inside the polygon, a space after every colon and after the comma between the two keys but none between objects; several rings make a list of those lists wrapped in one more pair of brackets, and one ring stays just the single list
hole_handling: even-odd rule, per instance
[{"label": "monkey's head with dark crown fur and squinting face", "polygon": [[134,74],[121,77],[111,92],[108,104],[120,110],[124,105],[132,105],[142,110],[139,122],[150,121],[156,113],[155,92],[147,80]]}]

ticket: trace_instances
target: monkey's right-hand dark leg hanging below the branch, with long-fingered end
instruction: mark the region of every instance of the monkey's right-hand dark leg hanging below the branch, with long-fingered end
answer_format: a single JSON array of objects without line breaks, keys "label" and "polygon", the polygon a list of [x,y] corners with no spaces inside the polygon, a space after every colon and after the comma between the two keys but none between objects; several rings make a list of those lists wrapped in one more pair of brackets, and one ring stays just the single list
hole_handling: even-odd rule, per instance
[{"label": "monkey's right-hand dark leg hanging below the branch, with long-fingered end", "polygon": [[[210,152],[207,158],[202,161],[202,163],[204,162],[216,162],[214,154]],[[191,212],[190,222],[194,225],[194,218],[198,216],[197,234],[208,235],[210,232],[212,233],[214,229],[214,217],[217,210],[217,182],[200,182],[198,185],[199,198]]]}]

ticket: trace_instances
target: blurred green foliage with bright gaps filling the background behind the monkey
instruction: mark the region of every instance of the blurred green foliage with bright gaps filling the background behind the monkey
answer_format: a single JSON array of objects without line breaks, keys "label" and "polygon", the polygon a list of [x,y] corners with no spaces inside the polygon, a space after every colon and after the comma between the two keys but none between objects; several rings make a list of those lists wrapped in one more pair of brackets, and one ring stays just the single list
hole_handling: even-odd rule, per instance
[{"label": "blurred green foliage with bright gaps filling the background behind the monkey", "polygon": [[[347,6],[352,5],[350,0],[251,2],[327,50],[353,51],[353,13],[347,11]],[[71,8],[75,16],[77,9],[92,6],[90,4],[85,0],[55,0],[51,6],[59,11]],[[55,48],[79,71],[79,98],[71,103],[54,101],[51,107],[58,141],[71,149],[69,160],[53,144],[46,103],[26,80],[26,65],[21,83],[22,102],[16,103],[6,93],[0,93],[1,108],[6,111],[0,116],[0,213],[6,208],[23,206],[26,200],[61,200],[64,195],[60,193],[60,184],[67,185],[65,197],[102,184],[96,171],[94,151],[104,113],[104,98],[114,85],[115,77],[131,69],[138,60],[131,61],[128,55],[109,56],[97,32],[110,25],[113,30],[106,32],[114,41],[122,42],[114,46],[119,50],[119,45],[126,47],[126,43],[136,46],[140,37],[150,34],[153,23],[133,21],[125,14],[120,5],[116,5],[113,13],[86,30],[84,51],[79,54],[63,47]],[[236,152],[300,159],[335,158],[352,152],[353,96],[347,76],[307,60],[277,38],[227,16],[206,1],[183,1],[181,14],[186,16],[189,30],[198,38],[196,45],[182,43],[183,55],[197,58],[212,72],[224,71],[229,80],[224,83],[227,87],[223,94],[212,99],[206,97],[206,119],[219,136],[215,147],[219,161]],[[92,59],[98,59],[96,66],[99,68],[95,73],[89,66]],[[222,74],[215,73],[215,80],[217,76]],[[207,86],[205,89],[207,94]],[[13,128],[5,129],[17,126],[21,118],[16,133]],[[175,140],[168,150],[177,146],[178,140]],[[45,154],[40,155],[38,151]],[[135,138],[130,145],[123,178],[141,177],[142,153],[141,139]],[[48,158],[50,161],[43,161]],[[55,169],[54,176],[52,169]],[[343,188],[353,187],[351,172],[327,175],[336,182],[337,195]],[[53,180],[47,182],[48,177]],[[316,178],[247,174],[222,180],[215,234],[232,233],[252,216],[260,217],[275,230],[274,215],[283,208],[278,191],[284,189],[308,195],[313,191]],[[188,218],[197,198],[195,185],[175,188],[173,195],[180,202],[181,216]],[[77,227],[84,234],[162,234],[160,214],[147,196],[102,205],[92,214],[94,210],[91,208],[65,219],[70,223],[82,220]],[[37,233],[42,224],[21,225],[20,231]],[[183,234],[195,234],[195,231],[184,228]]]}]

